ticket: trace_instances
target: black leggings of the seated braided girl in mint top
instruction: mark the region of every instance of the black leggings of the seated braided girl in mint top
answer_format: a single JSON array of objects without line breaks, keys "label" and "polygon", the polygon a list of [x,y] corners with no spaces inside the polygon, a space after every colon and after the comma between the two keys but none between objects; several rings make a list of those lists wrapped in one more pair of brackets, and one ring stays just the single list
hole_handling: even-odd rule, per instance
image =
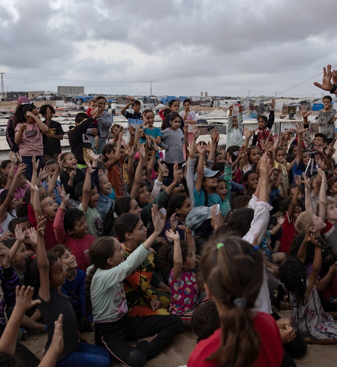
[{"label": "black leggings of the seated braided girl in mint top", "polygon": [[[131,367],[142,367],[184,330],[182,319],[176,315],[124,316],[115,322],[95,323],[95,342],[119,361]],[[155,334],[157,336],[150,343],[142,340],[135,347],[127,343]]]}]

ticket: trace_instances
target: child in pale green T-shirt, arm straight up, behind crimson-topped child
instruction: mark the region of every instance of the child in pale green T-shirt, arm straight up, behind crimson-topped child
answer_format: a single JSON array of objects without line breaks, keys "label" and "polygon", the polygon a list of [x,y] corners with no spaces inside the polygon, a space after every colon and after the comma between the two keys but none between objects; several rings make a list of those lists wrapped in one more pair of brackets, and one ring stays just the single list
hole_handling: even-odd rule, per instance
[{"label": "child in pale green T-shirt, arm straight up, behind crimson-topped child", "polygon": [[88,150],[88,155],[93,159],[93,166],[86,159],[87,173],[84,182],[80,182],[75,187],[75,194],[80,201],[78,209],[85,214],[88,223],[88,232],[95,238],[102,236],[102,219],[95,207],[98,206],[99,193],[96,184],[92,181],[92,174],[97,171],[97,160],[99,158],[93,151]]}]

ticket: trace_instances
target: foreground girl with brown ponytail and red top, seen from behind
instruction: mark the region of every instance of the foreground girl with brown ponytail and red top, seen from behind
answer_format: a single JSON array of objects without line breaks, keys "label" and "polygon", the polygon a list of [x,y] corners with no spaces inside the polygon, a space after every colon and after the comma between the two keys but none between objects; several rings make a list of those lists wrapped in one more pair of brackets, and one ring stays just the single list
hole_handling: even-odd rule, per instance
[{"label": "foreground girl with brown ponytail and red top, seen from behind", "polygon": [[262,252],[236,236],[214,241],[205,248],[201,266],[220,328],[198,343],[187,366],[279,367],[283,347],[276,321],[254,311],[263,282]]}]

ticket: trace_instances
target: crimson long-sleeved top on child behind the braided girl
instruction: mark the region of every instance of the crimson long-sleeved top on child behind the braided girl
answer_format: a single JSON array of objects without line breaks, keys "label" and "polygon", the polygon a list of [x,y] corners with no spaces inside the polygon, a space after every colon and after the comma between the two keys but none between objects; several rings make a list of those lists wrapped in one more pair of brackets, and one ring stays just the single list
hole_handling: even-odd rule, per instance
[{"label": "crimson long-sleeved top on child behind the braided girl", "polygon": [[64,230],[63,219],[65,209],[58,208],[54,220],[54,232],[58,243],[66,245],[70,248],[73,255],[76,257],[78,268],[87,271],[89,264],[89,248],[95,241],[95,237],[87,234],[82,238],[73,238]]}]

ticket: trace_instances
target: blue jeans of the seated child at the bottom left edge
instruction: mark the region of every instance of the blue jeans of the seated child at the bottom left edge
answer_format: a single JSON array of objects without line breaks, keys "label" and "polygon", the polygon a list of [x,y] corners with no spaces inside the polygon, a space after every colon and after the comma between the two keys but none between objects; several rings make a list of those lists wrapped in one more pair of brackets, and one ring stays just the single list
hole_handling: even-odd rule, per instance
[{"label": "blue jeans of the seated child at the bottom left edge", "polygon": [[56,366],[66,367],[110,367],[110,353],[98,345],[80,342],[72,353],[56,362]]}]

